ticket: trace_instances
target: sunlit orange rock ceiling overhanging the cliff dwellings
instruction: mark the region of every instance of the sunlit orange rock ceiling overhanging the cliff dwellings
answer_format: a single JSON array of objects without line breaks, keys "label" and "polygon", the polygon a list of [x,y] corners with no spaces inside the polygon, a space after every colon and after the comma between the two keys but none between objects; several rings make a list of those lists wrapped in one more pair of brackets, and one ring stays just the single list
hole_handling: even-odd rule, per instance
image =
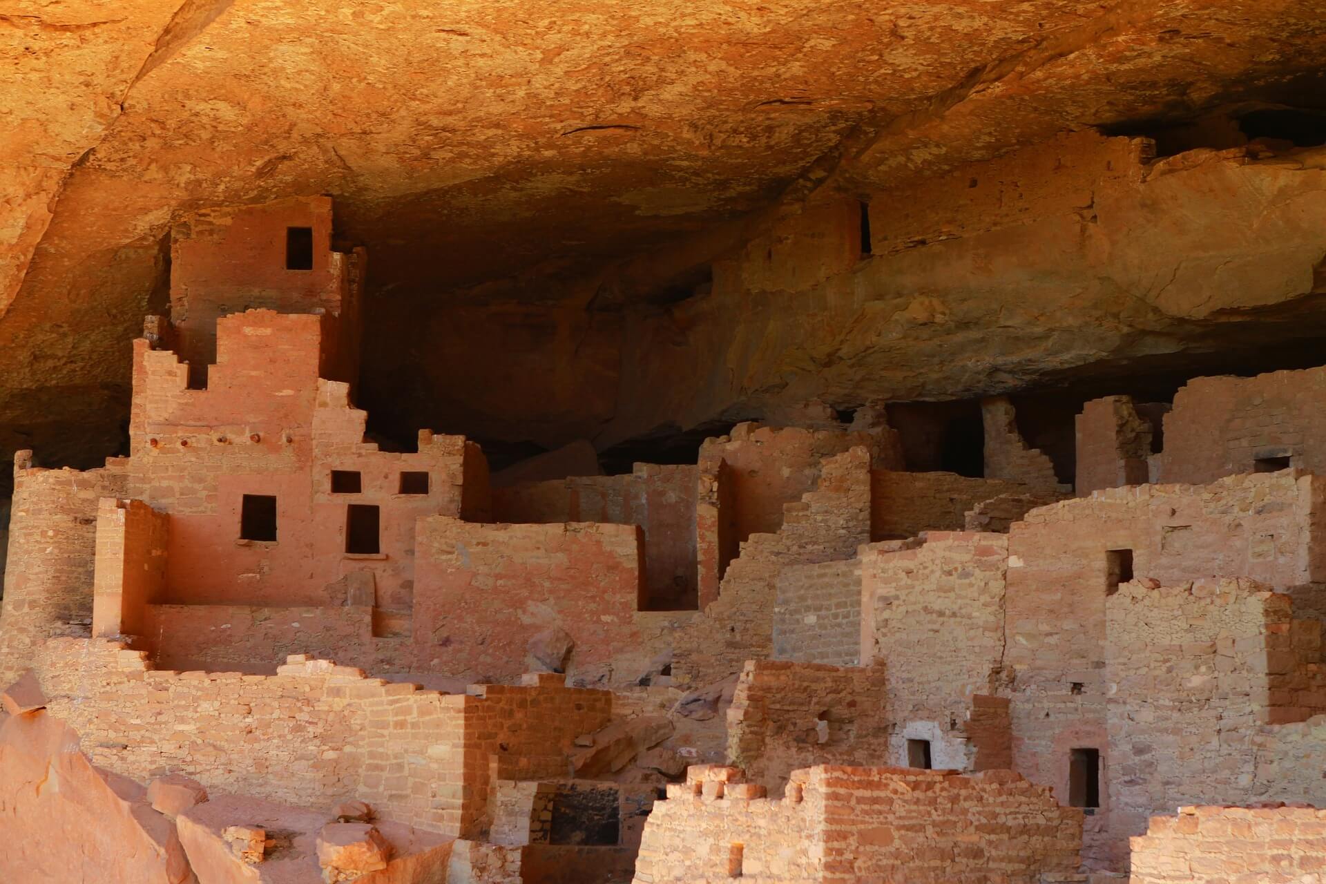
[{"label": "sunlit orange rock ceiling overhanging the cliff dwellings", "polygon": [[50,437],[60,460],[70,427],[117,432],[127,341],[184,211],[333,193],[341,235],[370,249],[371,297],[467,297],[619,261],[788,191],[887,187],[1228,102],[1319,102],[1322,12],[3,0],[0,451]]}]

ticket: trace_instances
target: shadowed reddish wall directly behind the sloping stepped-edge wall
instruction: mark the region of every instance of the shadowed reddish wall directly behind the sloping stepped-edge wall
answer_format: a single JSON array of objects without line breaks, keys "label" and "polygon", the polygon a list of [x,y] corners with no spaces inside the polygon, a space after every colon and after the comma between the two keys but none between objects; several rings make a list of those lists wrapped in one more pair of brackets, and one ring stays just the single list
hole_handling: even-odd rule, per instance
[{"label": "shadowed reddish wall directly behind the sloping stepped-edge wall", "polygon": [[[739,546],[752,534],[773,534],[782,526],[784,506],[796,504],[813,490],[825,459],[854,447],[869,453],[878,469],[903,469],[898,433],[887,427],[871,431],[773,428],[741,423],[728,436],[704,440],[699,452],[699,472],[708,481],[727,485],[720,494],[721,509],[717,561],[700,558],[700,604],[712,600],[705,580],[727,574]],[[723,469],[725,467],[725,469]],[[703,538],[703,535],[701,535]],[[701,543],[704,541],[701,539]]]}]

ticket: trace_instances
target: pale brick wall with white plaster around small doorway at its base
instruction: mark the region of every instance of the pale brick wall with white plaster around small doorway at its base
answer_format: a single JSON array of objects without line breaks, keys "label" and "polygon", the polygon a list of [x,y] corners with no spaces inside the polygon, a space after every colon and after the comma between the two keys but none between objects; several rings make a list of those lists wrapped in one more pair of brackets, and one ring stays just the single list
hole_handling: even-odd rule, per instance
[{"label": "pale brick wall with white plaster around small doorway at its base", "polygon": [[896,726],[887,758],[930,740],[936,767],[971,770],[973,697],[1002,687],[1005,534],[927,531],[862,547],[861,660],[884,667]]}]

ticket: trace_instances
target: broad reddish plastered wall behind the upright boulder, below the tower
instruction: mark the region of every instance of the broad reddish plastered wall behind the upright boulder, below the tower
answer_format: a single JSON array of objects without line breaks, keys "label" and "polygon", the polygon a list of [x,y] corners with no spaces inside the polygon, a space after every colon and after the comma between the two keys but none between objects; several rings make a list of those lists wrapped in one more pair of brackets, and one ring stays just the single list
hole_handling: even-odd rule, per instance
[{"label": "broad reddish plastered wall behind the upright boulder, below the tower", "polygon": [[575,639],[577,679],[633,681],[697,612],[639,611],[640,529],[589,522],[419,520],[414,669],[501,680],[552,627]]}]

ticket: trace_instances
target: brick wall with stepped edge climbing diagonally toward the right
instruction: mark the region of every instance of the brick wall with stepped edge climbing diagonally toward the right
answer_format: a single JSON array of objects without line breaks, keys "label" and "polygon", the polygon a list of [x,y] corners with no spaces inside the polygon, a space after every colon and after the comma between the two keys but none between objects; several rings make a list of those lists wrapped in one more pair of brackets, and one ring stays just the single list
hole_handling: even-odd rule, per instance
[{"label": "brick wall with stepped edge climbing diagonally toward the right", "polygon": [[[701,468],[703,474],[703,468]],[[870,538],[870,452],[826,457],[819,484],[784,506],[776,534],[752,534],[723,577],[721,592],[674,639],[674,683],[697,687],[770,656],[778,575],[788,566],[845,561]]]}]

